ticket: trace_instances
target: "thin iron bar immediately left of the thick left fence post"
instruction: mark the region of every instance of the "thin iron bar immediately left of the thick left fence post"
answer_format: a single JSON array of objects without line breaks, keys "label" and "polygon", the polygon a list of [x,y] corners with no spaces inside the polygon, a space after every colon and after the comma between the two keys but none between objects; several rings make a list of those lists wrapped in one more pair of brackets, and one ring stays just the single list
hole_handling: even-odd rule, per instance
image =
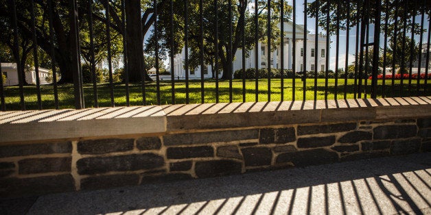
[{"label": "thin iron bar immediately left of the thick left fence post", "polygon": [[56,69],[56,53],[54,47],[54,24],[53,24],[53,13],[54,6],[52,0],[48,0],[49,10],[49,45],[51,46],[51,69],[52,69],[52,83],[54,84],[54,103],[58,110],[58,88],[57,88],[57,69]]}]

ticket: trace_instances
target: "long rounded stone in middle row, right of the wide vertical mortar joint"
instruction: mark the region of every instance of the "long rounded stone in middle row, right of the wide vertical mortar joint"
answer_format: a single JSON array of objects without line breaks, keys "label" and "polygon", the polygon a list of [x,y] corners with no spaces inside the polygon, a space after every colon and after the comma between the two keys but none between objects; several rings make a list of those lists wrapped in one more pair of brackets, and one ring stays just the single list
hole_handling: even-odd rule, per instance
[{"label": "long rounded stone in middle row, right of the wide vertical mortar joint", "polygon": [[153,153],[119,155],[110,157],[86,157],[76,166],[80,175],[108,173],[110,171],[150,170],[164,166],[165,160]]}]

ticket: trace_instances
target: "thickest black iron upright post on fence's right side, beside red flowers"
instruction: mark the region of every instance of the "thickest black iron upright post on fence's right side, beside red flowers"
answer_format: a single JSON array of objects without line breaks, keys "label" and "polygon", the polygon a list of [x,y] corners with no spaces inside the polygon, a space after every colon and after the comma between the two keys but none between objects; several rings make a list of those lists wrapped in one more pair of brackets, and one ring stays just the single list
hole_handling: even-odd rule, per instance
[{"label": "thickest black iron upright post on fence's right side, beside red flowers", "polygon": [[375,1],[375,18],[374,18],[374,48],[373,48],[373,71],[371,78],[371,99],[377,98],[377,73],[379,71],[379,53],[380,53],[380,17],[382,14],[382,3]]}]

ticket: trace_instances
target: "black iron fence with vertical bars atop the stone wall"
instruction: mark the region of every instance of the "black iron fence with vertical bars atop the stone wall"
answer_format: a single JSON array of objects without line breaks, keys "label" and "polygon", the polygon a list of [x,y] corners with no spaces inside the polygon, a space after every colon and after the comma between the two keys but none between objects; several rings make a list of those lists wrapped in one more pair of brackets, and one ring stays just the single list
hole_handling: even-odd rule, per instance
[{"label": "black iron fence with vertical bars atop the stone wall", "polygon": [[[18,100],[25,110],[34,102],[26,90],[36,90],[39,110],[51,108],[44,93],[57,109],[68,92],[76,109],[99,107],[104,94],[115,106],[118,88],[121,105],[137,104],[130,101],[136,88],[142,105],[271,101],[274,94],[279,101],[428,96],[430,13],[426,0],[3,0],[0,60],[15,63],[18,88],[4,86],[14,75],[2,64],[1,110]],[[51,71],[45,92],[41,66]],[[162,70],[170,73],[164,80]],[[28,71],[36,88],[27,86]],[[65,86],[73,91],[59,93]]]}]

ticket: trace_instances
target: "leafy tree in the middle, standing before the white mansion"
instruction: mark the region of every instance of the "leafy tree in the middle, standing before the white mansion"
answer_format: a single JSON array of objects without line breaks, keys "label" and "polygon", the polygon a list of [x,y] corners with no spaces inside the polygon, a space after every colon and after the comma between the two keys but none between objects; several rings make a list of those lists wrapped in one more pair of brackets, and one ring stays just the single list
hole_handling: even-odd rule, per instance
[{"label": "leafy tree in the middle, standing before the white mansion", "polygon": [[[203,44],[200,40],[200,7],[198,0],[189,1],[187,5],[187,18],[189,19],[189,31],[188,38],[185,38],[185,5],[184,1],[174,1],[174,52],[180,53],[181,49],[185,45],[185,39],[189,41],[190,53],[188,56],[190,68],[196,68],[200,65],[200,47],[204,47],[204,63],[205,64],[218,64],[222,68],[223,76],[222,79],[229,79],[232,71],[229,68],[229,36],[232,36],[232,57],[235,56],[237,49],[242,48],[242,29],[244,28],[245,36],[245,50],[250,50],[255,44],[255,25],[254,25],[254,10],[249,10],[248,5],[251,5],[254,1],[245,0],[233,0],[232,1],[232,18],[229,19],[228,11],[229,5],[227,1],[218,1],[217,10],[214,8],[213,1],[204,1],[202,4],[202,26],[203,26]],[[285,1],[285,20],[290,17],[292,7],[287,5]],[[254,4],[253,4],[254,5]],[[147,52],[154,53],[154,47],[156,42],[159,42],[159,51],[161,53],[167,53],[170,51],[170,39],[171,39],[171,25],[170,25],[170,8],[161,8],[159,10],[159,40],[155,40],[154,31],[150,40],[148,40],[148,46],[146,47]],[[280,21],[280,1],[272,1],[271,4],[271,23],[272,44],[279,41],[279,28],[277,25]],[[214,58],[215,55],[215,12],[218,12],[218,56],[217,61]],[[258,39],[266,41],[266,22],[268,5],[266,1],[258,2]],[[244,22],[245,20],[245,22]],[[229,32],[229,23],[232,25],[232,33]],[[277,43],[278,44],[278,43]],[[232,58],[233,60],[233,58]]]}]

